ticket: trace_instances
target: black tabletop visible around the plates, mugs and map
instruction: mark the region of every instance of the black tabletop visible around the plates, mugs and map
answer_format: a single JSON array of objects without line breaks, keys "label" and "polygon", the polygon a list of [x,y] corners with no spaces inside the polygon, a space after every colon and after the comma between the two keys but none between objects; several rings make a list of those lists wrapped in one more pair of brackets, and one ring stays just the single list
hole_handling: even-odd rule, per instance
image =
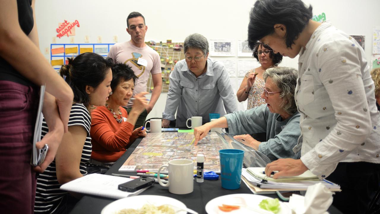
[{"label": "black tabletop visible around the plates, mugs and map", "polygon": [[[125,175],[134,175],[136,176],[136,172],[119,172],[119,168],[123,165],[123,163],[128,159],[133,150],[136,149],[137,145],[141,142],[142,138],[136,139],[133,144],[127,149],[122,157],[117,160],[114,165],[109,169],[106,174],[111,175],[112,173],[116,174],[125,174]],[[140,195],[162,195],[168,196],[171,198],[175,198],[182,203],[186,204],[186,206],[190,209],[195,210],[199,214],[206,214],[205,206],[207,202],[222,195],[229,194],[237,194],[237,193],[249,193],[252,194],[251,190],[241,182],[240,188],[237,190],[226,190],[222,188],[221,180],[204,180],[203,183],[196,182],[194,180],[194,191],[185,195],[176,195],[170,193],[168,187],[162,187],[160,184],[154,184],[152,187],[148,188],[144,192],[140,193]],[[265,196],[269,196],[272,198],[277,198],[276,194],[268,194]],[[115,199],[111,198],[103,198],[98,196],[83,196],[83,198],[76,204],[74,209],[70,212],[70,214],[97,214],[100,213],[101,210]],[[338,209],[331,206],[328,209],[328,212],[331,214],[341,214]]]}]

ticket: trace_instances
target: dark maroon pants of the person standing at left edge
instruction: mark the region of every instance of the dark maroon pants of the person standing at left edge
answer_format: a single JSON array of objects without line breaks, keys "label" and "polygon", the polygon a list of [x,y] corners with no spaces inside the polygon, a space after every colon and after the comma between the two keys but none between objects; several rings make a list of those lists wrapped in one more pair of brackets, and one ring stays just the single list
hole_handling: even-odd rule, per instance
[{"label": "dark maroon pants of the person standing at left edge", "polygon": [[30,165],[38,89],[0,81],[0,210],[33,213],[36,174]]}]

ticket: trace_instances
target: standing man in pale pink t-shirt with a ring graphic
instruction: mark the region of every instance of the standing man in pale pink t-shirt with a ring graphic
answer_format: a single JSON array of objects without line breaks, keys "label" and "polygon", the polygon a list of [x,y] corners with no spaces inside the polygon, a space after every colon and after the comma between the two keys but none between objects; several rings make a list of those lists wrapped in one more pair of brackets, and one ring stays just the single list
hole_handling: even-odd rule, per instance
[{"label": "standing man in pale pink t-shirt with a ring graphic", "polygon": [[[135,128],[144,125],[147,114],[153,109],[158,97],[161,93],[162,78],[161,78],[161,62],[160,55],[145,44],[145,33],[148,26],[145,25],[145,18],[141,13],[132,12],[127,17],[127,32],[131,35],[131,40],[123,43],[116,43],[109,50],[108,56],[115,62],[125,63],[132,67],[135,75],[138,77],[135,83],[133,96],[143,91],[146,91],[146,85],[149,78],[149,73],[152,73],[153,90],[150,97],[147,109],[141,113],[136,121]],[[129,113],[133,101],[129,101],[127,106],[124,106]]]}]

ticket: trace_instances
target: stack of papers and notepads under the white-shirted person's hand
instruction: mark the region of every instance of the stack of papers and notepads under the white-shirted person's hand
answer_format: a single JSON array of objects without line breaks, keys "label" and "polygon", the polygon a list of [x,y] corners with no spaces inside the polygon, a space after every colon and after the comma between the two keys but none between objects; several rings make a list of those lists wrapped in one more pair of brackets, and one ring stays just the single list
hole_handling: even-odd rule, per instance
[{"label": "stack of papers and notepads under the white-shirted person's hand", "polygon": [[[325,185],[332,192],[338,192],[340,186],[328,180],[315,179],[310,171],[305,172],[299,176],[283,177],[280,179],[273,179],[272,177],[265,176],[262,172],[265,170],[263,167],[247,168],[242,170],[242,180],[250,188],[254,194],[274,194],[279,191],[294,191],[294,190],[307,190],[307,187],[314,184],[321,183]],[[255,172],[255,173],[253,173]],[[259,173],[260,172],[260,173]],[[253,176],[255,174],[256,176]],[[259,175],[257,175],[259,174]],[[302,179],[303,178],[303,179]]]}]

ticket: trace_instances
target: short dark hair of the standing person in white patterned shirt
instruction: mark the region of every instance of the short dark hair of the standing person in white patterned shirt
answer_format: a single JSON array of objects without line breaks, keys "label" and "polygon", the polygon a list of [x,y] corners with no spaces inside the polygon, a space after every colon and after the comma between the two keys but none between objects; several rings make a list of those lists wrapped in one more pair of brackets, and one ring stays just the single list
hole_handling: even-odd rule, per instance
[{"label": "short dark hair of the standing person in white patterned shirt", "polygon": [[275,24],[286,27],[286,45],[291,47],[313,16],[301,0],[257,0],[249,13],[248,45],[251,50],[261,38],[274,33]]}]

